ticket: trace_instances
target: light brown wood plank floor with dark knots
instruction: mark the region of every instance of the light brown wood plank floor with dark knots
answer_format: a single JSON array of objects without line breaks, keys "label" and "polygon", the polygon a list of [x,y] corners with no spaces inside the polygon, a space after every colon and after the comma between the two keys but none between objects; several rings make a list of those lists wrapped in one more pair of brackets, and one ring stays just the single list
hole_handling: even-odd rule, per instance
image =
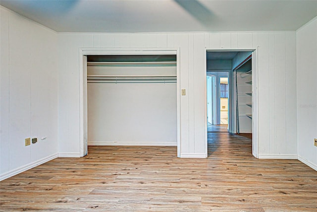
[{"label": "light brown wood plank floor with dark knots", "polygon": [[209,133],[208,159],[176,147],[89,147],[0,182],[0,211],[317,211],[317,171],[255,159],[251,139]]}]

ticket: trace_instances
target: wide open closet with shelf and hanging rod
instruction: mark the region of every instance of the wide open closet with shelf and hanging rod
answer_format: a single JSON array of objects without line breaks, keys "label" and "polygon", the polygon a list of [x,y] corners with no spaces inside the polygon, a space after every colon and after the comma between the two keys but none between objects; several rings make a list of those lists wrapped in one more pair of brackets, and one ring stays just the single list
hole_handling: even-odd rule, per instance
[{"label": "wide open closet with shelf and hanging rod", "polygon": [[83,51],[81,57],[81,157],[90,145],[177,146],[179,156],[177,51]]}]

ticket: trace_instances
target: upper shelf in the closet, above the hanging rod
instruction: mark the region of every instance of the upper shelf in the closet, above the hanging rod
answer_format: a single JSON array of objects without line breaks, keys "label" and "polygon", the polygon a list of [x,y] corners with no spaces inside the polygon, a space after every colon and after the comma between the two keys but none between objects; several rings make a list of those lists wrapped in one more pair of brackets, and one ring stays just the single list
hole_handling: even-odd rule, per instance
[{"label": "upper shelf in the closet, above the hanging rod", "polygon": [[176,61],[161,62],[87,62],[87,66],[112,66],[112,65],[176,65]]}]

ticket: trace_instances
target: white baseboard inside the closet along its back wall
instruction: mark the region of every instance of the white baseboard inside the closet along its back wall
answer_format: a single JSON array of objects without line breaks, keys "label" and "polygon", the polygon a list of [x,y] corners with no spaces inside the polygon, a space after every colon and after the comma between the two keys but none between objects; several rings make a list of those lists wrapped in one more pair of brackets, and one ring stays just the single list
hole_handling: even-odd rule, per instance
[{"label": "white baseboard inside the closet along its back wall", "polygon": [[177,146],[177,142],[89,141],[88,146]]}]

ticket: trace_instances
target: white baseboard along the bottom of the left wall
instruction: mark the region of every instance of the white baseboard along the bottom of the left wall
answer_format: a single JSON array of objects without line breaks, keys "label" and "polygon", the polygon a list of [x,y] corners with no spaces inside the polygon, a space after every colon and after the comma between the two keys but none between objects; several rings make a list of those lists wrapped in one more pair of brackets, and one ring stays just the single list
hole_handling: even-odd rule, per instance
[{"label": "white baseboard along the bottom of the left wall", "polygon": [[31,162],[29,164],[26,164],[26,165],[20,166],[18,168],[15,168],[13,170],[7,171],[7,172],[5,172],[5,173],[0,175],[0,181],[4,180],[4,179],[7,179],[9,177],[12,177],[12,176],[14,176],[16,174],[19,174],[19,173],[21,173],[23,171],[26,171],[26,170],[29,170],[31,168],[34,168],[35,166],[41,165],[41,164],[43,164],[45,162],[48,162],[48,161],[50,161],[52,159],[55,159],[57,157],[58,157],[58,154],[55,153],[55,154],[50,155],[48,157],[45,157],[43,159],[39,159],[39,160],[36,160],[36,161]]}]

